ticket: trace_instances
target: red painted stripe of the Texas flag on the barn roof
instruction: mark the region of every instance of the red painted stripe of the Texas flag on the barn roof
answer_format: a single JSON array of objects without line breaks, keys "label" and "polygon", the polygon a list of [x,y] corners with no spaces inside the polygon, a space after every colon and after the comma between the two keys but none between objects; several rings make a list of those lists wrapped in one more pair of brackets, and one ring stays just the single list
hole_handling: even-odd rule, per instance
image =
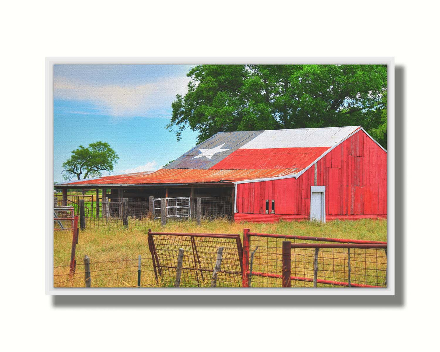
[{"label": "red painted stripe of the Texas flag on the barn roof", "polygon": [[330,147],[238,149],[211,169],[296,169],[300,172]]}]

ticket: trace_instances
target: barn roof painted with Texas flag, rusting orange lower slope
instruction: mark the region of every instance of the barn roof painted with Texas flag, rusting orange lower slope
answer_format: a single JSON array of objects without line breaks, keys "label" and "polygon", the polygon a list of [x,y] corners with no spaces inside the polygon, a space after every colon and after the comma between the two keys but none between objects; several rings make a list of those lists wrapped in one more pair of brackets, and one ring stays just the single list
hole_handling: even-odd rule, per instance
[{"label": "barn roof painted with Texas flag, rusting orange lower slope", "polygon": [[104,176],[62,185],[241,183],[298,177],[360,130],[363,130],[360,126],[348,126],[219,132],[158,171]]}]

